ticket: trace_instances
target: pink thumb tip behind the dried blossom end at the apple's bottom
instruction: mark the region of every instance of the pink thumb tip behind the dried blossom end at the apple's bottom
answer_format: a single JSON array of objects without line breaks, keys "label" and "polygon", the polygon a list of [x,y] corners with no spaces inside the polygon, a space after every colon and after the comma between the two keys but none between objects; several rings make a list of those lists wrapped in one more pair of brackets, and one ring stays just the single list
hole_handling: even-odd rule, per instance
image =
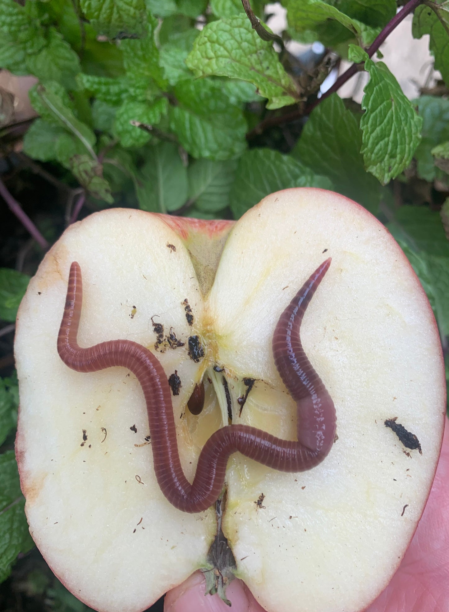
[{"label": "pink thumb tip behind the dried blossom end at the apple's bottom", "polygon": [[206,581],[195,572],[185,582],[165,595],[164,612],[264,612],[241,580],[233,580],[226,589],[231,610],[218,595],[204,595]]}]

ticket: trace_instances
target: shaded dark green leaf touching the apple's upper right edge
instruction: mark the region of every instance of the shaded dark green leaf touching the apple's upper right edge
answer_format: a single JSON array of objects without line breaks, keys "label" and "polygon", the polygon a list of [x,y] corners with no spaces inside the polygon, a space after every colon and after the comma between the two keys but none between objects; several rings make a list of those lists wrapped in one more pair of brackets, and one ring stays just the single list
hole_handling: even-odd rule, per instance
[{"label": "shaded dark green leaf touching the apple's upper right edge", "polygon": [[388,230],[420,278],[442,334],[449,335],[449,241],[440,215],[425,206],[401,206]]}]

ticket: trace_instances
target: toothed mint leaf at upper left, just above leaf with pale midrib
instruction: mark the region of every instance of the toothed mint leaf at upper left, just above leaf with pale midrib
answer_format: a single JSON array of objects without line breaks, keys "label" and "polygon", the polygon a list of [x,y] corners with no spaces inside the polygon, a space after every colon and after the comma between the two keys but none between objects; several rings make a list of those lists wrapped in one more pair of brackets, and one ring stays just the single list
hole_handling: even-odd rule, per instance
[{"label": "toothed mint leaf at upper left, just above leaf with pale midrib", "polygon": [[58,81],[67,89],[76,87],[75,76],[81,70],[78,55],[54,28],[48,32],[46,47],[29,55],[27,66],[41,82]]}]

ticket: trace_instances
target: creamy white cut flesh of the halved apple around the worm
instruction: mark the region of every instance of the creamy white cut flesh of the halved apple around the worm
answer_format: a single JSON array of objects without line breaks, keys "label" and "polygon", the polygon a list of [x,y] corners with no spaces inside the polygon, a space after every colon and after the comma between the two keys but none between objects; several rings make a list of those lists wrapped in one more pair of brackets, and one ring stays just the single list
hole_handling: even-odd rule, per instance
[{"label": "creamy white cut flesh of the halved apple around the worm", "polygon": [[[206,565],[216,522],[213,509],[188,515],[161,494],[135,377],[124,368],[76,373],[59,359],[72,261],[83,273],[80,345],[135,340],[155,351],[168,377],[179,376],[173,409],[191,480],[204,442],[228,424],[223,376],[232,423],[295,439],[295,405],[273,362],[272,334],[329,256],[301,337],[335,403],[338,439],[319,466],[299,474],[234,455],[223,532],[237,577],[267,611],[357,612],[385,588],[414,534],[445,414],[432,310],[384,226],[343,196],[289,189],[235,225],[100,212],[71,226],[45,256],[17,319],[17,458],[32,537],[89,606],[144,610]],[[163,326],[160,343],[154,324]],[[171,329],[184,346],[169,346]],[[193,335],[204,350],[199,361],[188,354]],[[245,378],[256,382],[242,408]],[[200,381],[205,407],[194,416],[186,405]],[[422,455],[385,427],[394,417],[417,436]]]}]

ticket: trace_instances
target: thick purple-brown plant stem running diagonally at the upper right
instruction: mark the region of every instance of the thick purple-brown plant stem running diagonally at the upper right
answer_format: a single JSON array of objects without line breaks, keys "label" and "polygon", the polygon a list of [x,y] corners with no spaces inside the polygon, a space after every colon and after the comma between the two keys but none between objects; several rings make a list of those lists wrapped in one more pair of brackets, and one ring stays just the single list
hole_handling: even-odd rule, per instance
[{"label": "thick purple-brown plant stem running diagonally at the upper right", "polygon": [[[370,47],[368,47],[368,49],[366,50],[366,53],[368,53],[368,56],[370,58],[374,55],[374,53],[376,53],[380,45],[385,42],[387,36],[390,35],[391,32],[393,32],[396,26],[398,26],[399,23],[401,23],[401,21],[403,21],[407,17],[407,15],[414,11],[420,4],[423,4],[423,2],[424,0],[409,0],[407,4],[404,4],[402,9],[399,10],[399,12],[396,13],[395,17],[393,17],[393,19],[387,23],[382,32],[380,32],[379,35],[377,35],[376,39],[374,39],[373,44],[370,45]],[[313,111],[313,109],[315,108],[315,106],[319,105],[320,102],[325,100],[331,94],[338,91],[338,89],[340,89],[341,86],[346,83],[346,81],[349,81],[349,79],[354,76],[355,73],[357,73],[358,70],[360,70],[360,67],[362,66],[363,64],[352,64],[346,70],[346,72],[344,72],[338,77],[332,87],[325,91],[320,98],[314,100],[314,102],[306,106],[305,109],[297,108],[294,111],[291,111],[291,113],[286,113],[277,117],[269,117],[264,121],[261,121],[258,125],[256,125],[256,127],[254,127],[253,130],[251,130],[251,132],[248,132],[247,139],[250,140],[254,136],[261,134],[267,127],[272,127],[273,125],[280,125],[283,123],[289,123],[291,121],[295,121],[296,119],[300,119],[304,115],[310,114],[311,111]]]}]

